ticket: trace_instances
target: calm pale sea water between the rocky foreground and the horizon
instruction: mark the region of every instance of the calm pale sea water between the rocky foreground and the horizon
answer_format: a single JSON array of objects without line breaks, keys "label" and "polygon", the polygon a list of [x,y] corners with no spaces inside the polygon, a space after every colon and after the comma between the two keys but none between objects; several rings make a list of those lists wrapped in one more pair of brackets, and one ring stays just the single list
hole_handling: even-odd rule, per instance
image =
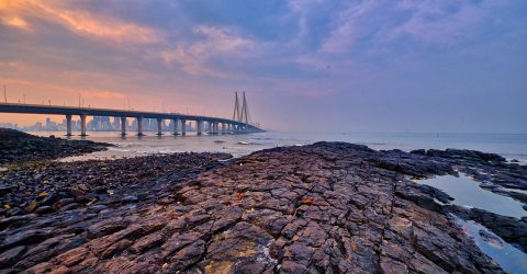
[{"label": "calm pale sea water between the rocky foreground and the horizon", "polygon": [[[32,133],[41,136],[63,133]],[[280,133],[266,132],[247,135],[202,135],[188,133],[187,136],[172,136],[166,133],[158,137],[156,133],[145,133],[146,136],[137,137],[133,134],[122,138],[119,133],[88,133],[83,137],[94,141],[114,144],[115,147],[77,159],[111,159],[133,157],[150,153],[169,153],[184,151],[212,151],[228,152],[235,157],[248,155],[253,151],[279,146],[301,146],[315,141],[347,141],[367,145],[373,149],[474,149],[484,152],[498,153],[508,160],[516,159],[522,164],[527,164],[527,134],[360,134],[360,133]],[[80,139],[80,136],[70,137]]]}]

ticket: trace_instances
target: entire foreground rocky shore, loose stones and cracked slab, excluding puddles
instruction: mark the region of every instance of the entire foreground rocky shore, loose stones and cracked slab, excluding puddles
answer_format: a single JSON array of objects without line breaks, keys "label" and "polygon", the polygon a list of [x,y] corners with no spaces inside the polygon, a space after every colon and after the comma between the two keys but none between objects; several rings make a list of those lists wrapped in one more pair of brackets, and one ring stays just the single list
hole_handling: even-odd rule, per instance
[{"label": "entire foreground rocky shore, loose stones and cracked slab, excluding puddles", "polygon": [[525,204],[511,189],[527,190],[527,168],[496,155],[317,142],[228,158],[0,171],[0,273],[503,272],[451,214],[527,250],[525,217],[461,208],[411,180],[463,172]]}]

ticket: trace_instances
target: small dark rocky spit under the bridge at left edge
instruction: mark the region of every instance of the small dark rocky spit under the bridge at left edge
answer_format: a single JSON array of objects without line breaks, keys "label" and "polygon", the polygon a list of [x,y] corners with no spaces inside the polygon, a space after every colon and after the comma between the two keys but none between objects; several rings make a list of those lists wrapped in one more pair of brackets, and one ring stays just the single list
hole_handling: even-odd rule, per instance
[{"label": "small dark rocky spit under the bridge at left edge", "polygon": [[40,137],[0,128],[0,165],[13,162],[49,160],[104,150],[110,144]]}]

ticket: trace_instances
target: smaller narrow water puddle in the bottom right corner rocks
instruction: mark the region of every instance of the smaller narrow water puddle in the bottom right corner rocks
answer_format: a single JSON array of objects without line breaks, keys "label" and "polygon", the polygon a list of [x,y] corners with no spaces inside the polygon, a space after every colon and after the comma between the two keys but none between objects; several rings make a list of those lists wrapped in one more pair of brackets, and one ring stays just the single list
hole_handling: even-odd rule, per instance
[{"label": "smaller narrow water puddle in the bottom right corner rocks", "polygon": [[474,240],[478,248],[509,273],[527,273],[527,254],[505,242],[482,225],[456,217],[456,222]]}]

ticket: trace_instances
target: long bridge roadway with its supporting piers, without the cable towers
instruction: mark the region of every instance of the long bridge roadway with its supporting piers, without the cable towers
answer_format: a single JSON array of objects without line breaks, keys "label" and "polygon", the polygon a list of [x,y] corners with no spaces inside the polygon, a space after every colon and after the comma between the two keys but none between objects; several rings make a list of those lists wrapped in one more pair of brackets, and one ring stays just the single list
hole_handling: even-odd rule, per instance
[{"label": "long bridge roadway with its supporting piers, without the cable towers", "polygon": [[[49,114],[49,115],[65,115],[67,136],[71,136],[71,117],[74,115],[80,116],[80,135],[86,136],[86,118],[87,116],[111,116],[121,117],[121,135],[126,135],[126,118],[137,119],[137,135],[143,135],[142,122],[144,118],[157,119],[157,134],[161,135],[162,121],[173,121],[173,134],[178,135],[178,121],[181,122],[181,135],[186,134],[186,125],[188,122],[195,122],[198,135],[203,132],[203,124],[208,123],[211,134],[220,133],[256,133],[264,132],[262,129],[250,124],[238,121],[200,116],[186,115],[180,113],[159,113],[159,112],[142,112],[142,111],[126,111],[126,110],[110,110],[110,109],[92,109],[92,107],[75,107],[75,106],[59,106],[59,105],[37,105],[37,104],[13,104],[0,103],[0,113],[25,113],[25,114]],[[221,124],[221,129],[220,129]]]}]

